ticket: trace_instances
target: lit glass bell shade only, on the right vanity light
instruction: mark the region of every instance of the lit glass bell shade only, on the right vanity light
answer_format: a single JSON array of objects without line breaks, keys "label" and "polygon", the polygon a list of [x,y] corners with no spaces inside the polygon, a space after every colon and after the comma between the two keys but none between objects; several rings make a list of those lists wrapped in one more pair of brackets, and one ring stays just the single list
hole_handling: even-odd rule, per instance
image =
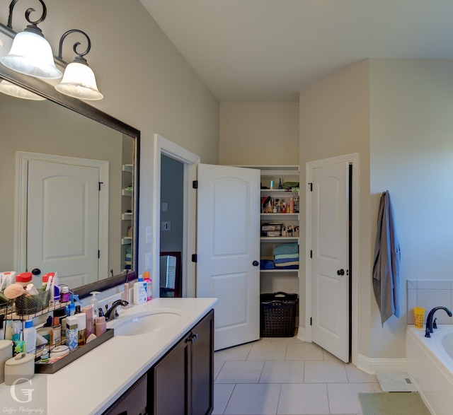
[{"label": "lit glass bell shade only, on the right vanity light", "polygon": [[64,70],[62,81],[55,86],[58,92],[81,100],[102,100],[94,72],[88,65],[72,62]]}]

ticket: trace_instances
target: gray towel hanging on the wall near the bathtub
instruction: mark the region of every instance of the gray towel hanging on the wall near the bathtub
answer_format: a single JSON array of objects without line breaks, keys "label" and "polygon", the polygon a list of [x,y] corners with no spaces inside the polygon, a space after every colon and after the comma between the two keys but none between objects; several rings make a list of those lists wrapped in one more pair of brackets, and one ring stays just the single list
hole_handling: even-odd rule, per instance
[{"label": "gray towel hanging on the wall near the bathtub", "polygon": [[373,290],[381,323],[395,315],[400,316],[399,264],[401,252],[396,236],[394,209],[389,191],[382,193],[377,216],[376,243],[374,245]]}]

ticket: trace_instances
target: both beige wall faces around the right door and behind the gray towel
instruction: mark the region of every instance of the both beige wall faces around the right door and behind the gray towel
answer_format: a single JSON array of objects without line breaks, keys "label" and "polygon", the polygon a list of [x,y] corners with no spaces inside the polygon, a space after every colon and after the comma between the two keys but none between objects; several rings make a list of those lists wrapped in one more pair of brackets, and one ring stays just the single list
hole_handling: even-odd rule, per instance
[{"label": "both beige wall faces around the right door and behind the gray towel", "polygon": [[[358,353],[365,358],[406,356],[407,279],[451,276],[452,96],[453,62],[428,59],[371,59],[300,93],[301,181],[306,161],[360,156]],[[382,327],[371,273],[386,189],[401,245],[401,318]]]}]

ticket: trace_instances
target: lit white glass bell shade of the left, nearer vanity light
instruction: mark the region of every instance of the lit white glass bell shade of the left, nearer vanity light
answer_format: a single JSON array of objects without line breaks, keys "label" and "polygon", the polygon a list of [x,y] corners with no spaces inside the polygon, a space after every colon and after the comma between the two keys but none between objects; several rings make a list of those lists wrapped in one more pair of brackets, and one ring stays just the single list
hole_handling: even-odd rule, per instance
[{"label": "lit white glass bell shade of the left, nearer vanity light", "polygon": [[49,42],[44,37],[31,32],[18,33],[11,50],[0,62],[13,71],[42,79],[58,79],[62,73],[54,63],[54,55]]}]

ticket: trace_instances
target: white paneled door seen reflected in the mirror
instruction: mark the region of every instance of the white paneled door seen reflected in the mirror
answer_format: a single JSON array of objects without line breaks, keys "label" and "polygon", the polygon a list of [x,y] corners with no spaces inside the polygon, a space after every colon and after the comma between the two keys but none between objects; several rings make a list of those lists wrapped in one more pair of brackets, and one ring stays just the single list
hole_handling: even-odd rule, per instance
[{"label": "white paneled door seen reflected in the mirror", "polygon": [[70,287],[98,281],[99,169],[28,163],[27,268]]}]

